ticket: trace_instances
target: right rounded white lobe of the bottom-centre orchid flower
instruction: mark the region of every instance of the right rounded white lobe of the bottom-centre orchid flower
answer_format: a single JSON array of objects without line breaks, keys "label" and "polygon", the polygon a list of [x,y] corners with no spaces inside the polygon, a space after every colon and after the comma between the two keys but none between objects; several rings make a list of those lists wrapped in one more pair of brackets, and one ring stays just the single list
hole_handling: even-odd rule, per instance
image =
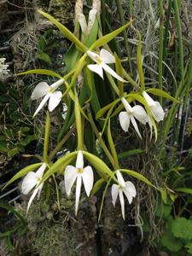
[{"label": "right rounded white lobe of the bottom-centre orchid flower", "polygon": [[82,178],[84,182],[84,189],[87,196],[90,196],[90,191],[93,188],[93,170],[90,166],[86,166],[82,172]]}]

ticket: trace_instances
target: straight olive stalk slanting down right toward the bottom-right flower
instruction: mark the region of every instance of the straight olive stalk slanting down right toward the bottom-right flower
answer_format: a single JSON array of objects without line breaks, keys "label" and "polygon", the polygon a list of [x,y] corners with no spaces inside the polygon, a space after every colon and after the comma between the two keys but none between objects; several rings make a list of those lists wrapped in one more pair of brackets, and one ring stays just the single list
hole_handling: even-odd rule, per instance
[{"label": "straight olive stalk slanting down right toward the bottom-right flower", "polygon": [[103,142],[102,137],[101,137],[99,131],[98,131],[97,128],[96,128],[96,125],[95,125],[95,123],[94,123],[94,120],[93,120],[93,118],[92,118],[91,113],[88,112],[87,115],[88,115],[88,118],[89,118],[89,121],[90,121],[90,125],[91,125],[91,127],[92,127],[92,130],[95,132],[96,137],[97,137],[99,143],[101,144],[103,151],[104,151],[105,154],[108,156],[108,160],[111,162],[111,164],[112,164],[112,166],[113,166],[113,168],[114,168],[114,167],[115,167],[115,164],[114,164],[114,160],[113,160],[112,154],[108,151],[108,147],[107,147],[106,144]]}]

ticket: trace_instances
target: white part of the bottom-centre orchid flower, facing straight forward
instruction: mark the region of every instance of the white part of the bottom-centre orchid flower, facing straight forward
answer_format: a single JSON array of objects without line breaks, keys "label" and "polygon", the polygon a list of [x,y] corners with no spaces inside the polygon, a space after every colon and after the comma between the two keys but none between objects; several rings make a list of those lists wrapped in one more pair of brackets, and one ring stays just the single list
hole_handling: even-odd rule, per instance
[{"label": "white part of the bottom-centre orchid flower, facing straight forward", "polygon": [[87,196],[93,187],[93,170],[90,166],[84,167],[84,156],[81,150],[78,152],[76,166],[67,166],[65,170],[65,188],[67,195],[70,195],[73,183],[77,178],[76,184],[76,199],[75,199],[75,214],[78,213],[79,198],[81,192],[81,183],[83,179],[84,189]]}]

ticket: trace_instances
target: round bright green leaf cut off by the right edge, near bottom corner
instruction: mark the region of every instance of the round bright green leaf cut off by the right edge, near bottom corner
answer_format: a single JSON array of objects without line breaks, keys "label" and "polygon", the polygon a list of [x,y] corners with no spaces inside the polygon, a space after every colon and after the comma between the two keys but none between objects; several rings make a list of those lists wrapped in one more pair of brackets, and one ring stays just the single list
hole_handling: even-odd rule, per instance
[{"label": "round bright green leaf cut off by the right edge, near bottom corner", "polygon": [[172,221],[172,233],[177,238],[192,239],[192,219],[177,218]]}]

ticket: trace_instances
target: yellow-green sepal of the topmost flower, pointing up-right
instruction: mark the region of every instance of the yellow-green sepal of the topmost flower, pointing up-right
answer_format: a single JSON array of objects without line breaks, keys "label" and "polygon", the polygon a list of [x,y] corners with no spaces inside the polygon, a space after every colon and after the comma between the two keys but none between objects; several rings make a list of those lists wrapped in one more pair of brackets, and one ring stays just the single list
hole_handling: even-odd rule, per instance
[{"label": "yellow-green sepal of the topmost flower, pointing up-right", "polygon": [[111,41],[113,38],[119,35],[119,33],[123,32],[125,28],[127,26],[130,26],[131,24],[132,24],[132,20],[129,23],[125,24],[124,26],[121,26],[118,29],[114,30],[113,32],[108,33],[102,38],[97,39],[96,42],[90,46],[90,50],[96,49],[97,47],[101,47],[104,44],[108,44],[109,41]]}]

